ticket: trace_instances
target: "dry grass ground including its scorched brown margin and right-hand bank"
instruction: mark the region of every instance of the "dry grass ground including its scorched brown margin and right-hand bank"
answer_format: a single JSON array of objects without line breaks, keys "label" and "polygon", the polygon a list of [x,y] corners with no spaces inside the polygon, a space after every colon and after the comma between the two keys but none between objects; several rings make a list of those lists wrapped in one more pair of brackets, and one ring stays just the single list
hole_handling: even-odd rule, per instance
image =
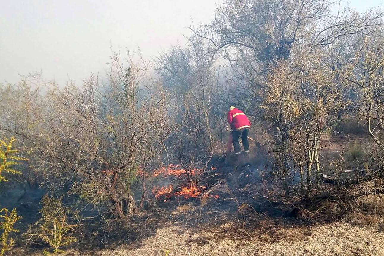
[{"label": "dry grass ground including its scorched brown margin and right-hand bank", "polygon": [[[175,205],[173,211],[164,210],[159,213],[161,218],[149,218],[145,230],[141,227],[136,231],[136,235],[147,233],[140,239],[131,240],[127,233],[121,238],[124,242],[110,245],[109,249],[72,251],[68,255],[384,255],[384,197],[371,193],[382,188],[382,182],[362,182],[349,188],[355,196],[353,201],[329,200],[328,212],[322,212],[343,218],[334,218],[337,221],[331,223],[321,222],[331,220],[325,215],[316,221],[313,217],[256,214],[247,203],[238,204],[232,213],[215,210],[215,215],[209,215],[213,209],[207,208],[202,215],[201,209],[208,200],[202,198],[199,202]],[[335,212],[329,212],[331,209]],[[151,221],[157,225],[151,225]],[[23,251],[17,255],[33,254]]]}]

